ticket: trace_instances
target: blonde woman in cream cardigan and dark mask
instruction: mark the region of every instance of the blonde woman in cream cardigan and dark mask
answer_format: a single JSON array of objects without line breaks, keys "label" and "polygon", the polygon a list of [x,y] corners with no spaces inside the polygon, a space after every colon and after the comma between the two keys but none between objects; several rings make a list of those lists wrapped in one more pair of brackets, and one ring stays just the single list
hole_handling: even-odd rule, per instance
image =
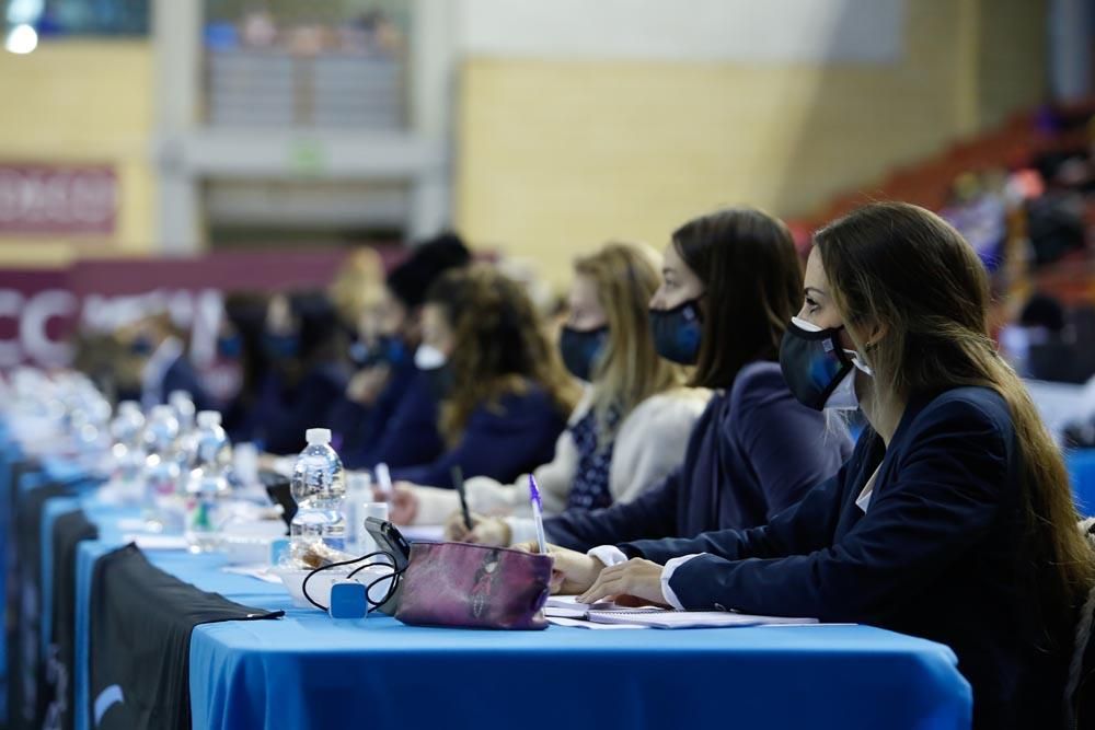
[{"label": "blonde woman in cream cardigan and dark mask", "polygon": [[[647,302],[658,286],[660,257],[648,246],[610,243],[574,264],[569,316],[560,338],[570,373],[590,381],[555,443],[551,462],[534,474],[544,510],[608,507],[630,501],[659,483],[684,457],[706,391],[681,387],[683,370],[658,357]],[[514,484],[468,480],[476,518],[470,540],[508,545],[535,536],[528,476]],[[437,524],[459,511],[450,489],[406,485],[396,489],[396,522]],[[514,517],[521,515],[521,517]],[[463,535],[462,518],[451,537]]]}]

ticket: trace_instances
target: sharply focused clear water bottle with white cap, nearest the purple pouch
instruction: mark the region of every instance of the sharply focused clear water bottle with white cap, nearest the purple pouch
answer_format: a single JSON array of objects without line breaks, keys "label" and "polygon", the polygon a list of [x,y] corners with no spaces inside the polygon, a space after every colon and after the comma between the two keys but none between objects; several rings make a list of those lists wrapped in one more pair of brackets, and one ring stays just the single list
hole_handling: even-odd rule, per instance
[{"label": "sharply focused clear water bottle with white cap, nearest the purple pouch", "polygon": [[292,468],[291,490],[297,514],[289,530],[291,556],[298,567],[308,563],[319,549],[346,548],[346,521],[342,502],[346,495],[343,465],[331,448],[331,430],[310,428],[304,438],[308,447],[300,452]]}]

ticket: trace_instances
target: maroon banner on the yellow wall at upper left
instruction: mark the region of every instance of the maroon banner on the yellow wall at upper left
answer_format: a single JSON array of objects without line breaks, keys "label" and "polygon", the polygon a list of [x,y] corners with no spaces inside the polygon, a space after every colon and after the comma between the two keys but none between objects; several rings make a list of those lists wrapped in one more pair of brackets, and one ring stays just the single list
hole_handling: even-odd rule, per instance
[{"label": "maroon banner on the yellow wall at upper left", "polygon": [[108,165],[0,164],[0,236],[111,235],[117,211]]}]

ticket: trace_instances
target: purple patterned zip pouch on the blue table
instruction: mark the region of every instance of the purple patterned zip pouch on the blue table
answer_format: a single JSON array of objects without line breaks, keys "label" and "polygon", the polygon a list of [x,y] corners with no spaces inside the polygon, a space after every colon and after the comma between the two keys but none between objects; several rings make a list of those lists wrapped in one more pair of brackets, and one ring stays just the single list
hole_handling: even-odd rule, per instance
[{"label": "purple patterned zip pouch on the blue table", "polygon": [[414,543],[395,617],[425,626],[546,628],[552,563],[508,547]]}]

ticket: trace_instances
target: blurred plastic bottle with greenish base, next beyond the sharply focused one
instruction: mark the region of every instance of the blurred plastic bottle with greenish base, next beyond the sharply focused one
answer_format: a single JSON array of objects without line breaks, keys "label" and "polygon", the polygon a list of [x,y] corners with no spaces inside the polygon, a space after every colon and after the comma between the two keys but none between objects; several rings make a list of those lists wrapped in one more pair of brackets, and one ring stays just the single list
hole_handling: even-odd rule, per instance
[{"label": "blurred plastic bottle with greenish base, next beyond the sharply focused one", "polygon": [[192,553],[207,553],[216,546],[222,500],[228,496],[228,472],[232,445],[220,427],[220,414],[203,410],[197,415],[193,468],[186,475],[186,541]]}]

